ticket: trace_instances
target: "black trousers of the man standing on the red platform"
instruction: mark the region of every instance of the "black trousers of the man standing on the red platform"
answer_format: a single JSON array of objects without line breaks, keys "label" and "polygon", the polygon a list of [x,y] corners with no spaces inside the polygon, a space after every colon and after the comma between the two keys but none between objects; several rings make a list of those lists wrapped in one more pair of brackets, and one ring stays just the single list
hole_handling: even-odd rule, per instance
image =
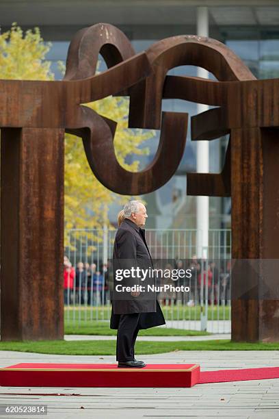
[{"label": "black trousers of the man standing on the red platform", "polygon": [[126,362],[134,359],[139,318],[140,313],[120,315],[116,341],[116,361]]}]

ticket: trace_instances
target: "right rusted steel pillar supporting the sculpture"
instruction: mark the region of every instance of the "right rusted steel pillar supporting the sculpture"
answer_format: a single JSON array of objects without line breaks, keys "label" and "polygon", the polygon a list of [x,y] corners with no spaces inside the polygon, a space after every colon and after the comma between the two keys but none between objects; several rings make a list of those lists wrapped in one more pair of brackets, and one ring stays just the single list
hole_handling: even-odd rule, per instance
[{"label": "right rusted steel pillar supporting the sculpture", "polygon": [[234,129],[230,139],[232,257],[239,264],[232,340],[278,342],[278,263],[271,259],[279,259],[279,129]]}]

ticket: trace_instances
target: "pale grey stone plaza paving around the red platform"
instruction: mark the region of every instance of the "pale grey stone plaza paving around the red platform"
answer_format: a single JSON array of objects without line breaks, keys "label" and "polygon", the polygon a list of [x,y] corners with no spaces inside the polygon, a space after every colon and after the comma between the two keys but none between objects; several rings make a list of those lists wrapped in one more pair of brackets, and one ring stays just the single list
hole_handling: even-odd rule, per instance
[{"label": "pale grey stone plaza paving around the red platform", "polygon": [[[137,355],[152,364],[200,364],[201,370],[279,366],[279,351],[176,351]],[[0,351],[0,366],[19,362],[111,363],[113,356]],[[279,379],[199,384],[193,388],[7,388],[0,405],[47,405],[47,416],[13,418],[279,418]],[[1,418],[11,416],[1,414]]]}]

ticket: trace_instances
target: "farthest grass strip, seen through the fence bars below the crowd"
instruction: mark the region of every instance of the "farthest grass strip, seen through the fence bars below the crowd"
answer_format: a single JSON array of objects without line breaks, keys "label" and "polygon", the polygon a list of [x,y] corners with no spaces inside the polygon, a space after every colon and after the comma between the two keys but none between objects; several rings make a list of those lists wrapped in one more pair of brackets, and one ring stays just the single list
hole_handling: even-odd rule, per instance
[{"label": "farthest grass strip, seen through the fence bars below the crowd", "polygon": [[[183,305],[163,306],[161,305],[166,320],[200,320],[200,305],[187,307]],[[66,306],[64,309],[65,325],[70,320],[109,320],[111,314],[110,306],[81,307]],[[208,307],[208,320],[230,320],[230,307],[227,305]]]}]

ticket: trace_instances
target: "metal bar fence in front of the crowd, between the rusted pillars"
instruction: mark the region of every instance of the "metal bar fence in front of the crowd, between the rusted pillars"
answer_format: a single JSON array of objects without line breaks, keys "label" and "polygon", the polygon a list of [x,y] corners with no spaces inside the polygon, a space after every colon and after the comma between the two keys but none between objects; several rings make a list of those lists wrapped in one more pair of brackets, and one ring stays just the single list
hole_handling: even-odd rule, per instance
[{"label": "metal bar fence in front of the crowd, between the rusted pillars", "polygon": [[[64,268],[66,329],[90,331],[109,321],[115,233],[106,228],[66,231],[65,256],[72,264]],[[196,257],[196,229],[146,229],[146,241],[153,259],[170,259],[172,268],[187,263],[193,272],[186,295],[159,295],[165,327],[230,333],[230,230],[209,230],[209,246],[203,249],[207,259]]]}]

